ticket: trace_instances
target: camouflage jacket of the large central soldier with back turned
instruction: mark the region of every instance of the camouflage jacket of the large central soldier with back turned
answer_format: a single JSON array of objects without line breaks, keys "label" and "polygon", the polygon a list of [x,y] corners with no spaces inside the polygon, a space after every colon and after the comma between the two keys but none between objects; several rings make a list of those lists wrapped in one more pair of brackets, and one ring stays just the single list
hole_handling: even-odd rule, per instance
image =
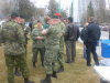
[{"label": "camouflage jacket of the large central soldier with back turned", "polygon": [[62,22],[52,24],[48,29],[46,39],[45,39],[45,48],[57,48],[59,49],[59,40],[63,33],[61,32]]}]

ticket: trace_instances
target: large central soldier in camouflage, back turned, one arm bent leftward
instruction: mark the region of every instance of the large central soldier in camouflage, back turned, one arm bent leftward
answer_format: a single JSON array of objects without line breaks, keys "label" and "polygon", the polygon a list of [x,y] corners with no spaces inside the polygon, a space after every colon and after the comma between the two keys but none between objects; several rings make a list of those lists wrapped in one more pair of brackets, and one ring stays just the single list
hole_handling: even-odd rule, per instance
[{"label": "large central soldier in camouflage, back turned, one arm bent leftward", "polygon": [[58,53],[62,33],[59,32],[58,27],[61,27],[61,20],[52,19],[48,23],[51,24],[50,29],[42,32],[43,34],[46,34],[46,52],[44,56],[46,77],[45,80],[42,80],[41,83],[52,83],[51,76],[57,77],[56,72],[59,70]]}]

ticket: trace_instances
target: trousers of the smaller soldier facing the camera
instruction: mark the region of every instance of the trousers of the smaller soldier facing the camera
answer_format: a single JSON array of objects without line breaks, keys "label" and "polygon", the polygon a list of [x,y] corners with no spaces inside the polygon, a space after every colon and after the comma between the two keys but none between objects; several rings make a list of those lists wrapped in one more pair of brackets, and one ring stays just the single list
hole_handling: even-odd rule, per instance
[{"label": "trousers of the smaller soldier facing the camera", "polygon": [[42,65],[44,62],[44,55],[45,55],[45,48],[34,48],[33,49],[33,62],[37,62],[37,54],[41,54],[41,61],[42,61]]}]

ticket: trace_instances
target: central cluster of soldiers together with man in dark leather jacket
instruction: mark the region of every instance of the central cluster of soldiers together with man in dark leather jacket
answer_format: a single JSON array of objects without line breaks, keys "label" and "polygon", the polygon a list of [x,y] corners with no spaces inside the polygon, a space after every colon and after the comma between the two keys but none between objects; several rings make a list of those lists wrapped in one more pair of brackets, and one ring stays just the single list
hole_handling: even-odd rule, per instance
[{"label": "central cluster of soldiers together with man in dark leather jacket", "polygon": [[[41,22],[32,31],[33,38],[33,66],[37,61],[37,51],[41,53],[42,65],[45,69],[46,77],[41,83],[52,83],[51,77],[57,77],[57,73],[64,71],[64,37],[67,42],[67,63],[75,61],[75,42],[79,37],[79,30],[73,24],[73,18],[68,18],[68,25],[59,19],[46,18],[48,29],[43,30]],[[38,32],[37,32],[38,31]],[[37,48],[37,50],[35,49]],[[45,53],[44,53],[45,52]]]}]

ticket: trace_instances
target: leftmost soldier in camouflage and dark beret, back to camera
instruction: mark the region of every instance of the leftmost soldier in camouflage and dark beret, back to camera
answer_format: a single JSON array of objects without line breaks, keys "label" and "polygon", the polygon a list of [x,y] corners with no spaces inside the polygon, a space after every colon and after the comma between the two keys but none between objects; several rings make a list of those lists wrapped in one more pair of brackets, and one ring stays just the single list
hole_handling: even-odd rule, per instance
[{"label": "leftmost soldier in camouflage and dark beret, back to camera", "polygon": [[18,13],[11,14],[11,20],[3,25],[3,48],[8,66],[8,82],[14,83],[14,66],[16,63],[24,77],[24,83],[34,83],[29,80],[29,70],[25,60],[25,40],[22,27],[18,23]]}]

